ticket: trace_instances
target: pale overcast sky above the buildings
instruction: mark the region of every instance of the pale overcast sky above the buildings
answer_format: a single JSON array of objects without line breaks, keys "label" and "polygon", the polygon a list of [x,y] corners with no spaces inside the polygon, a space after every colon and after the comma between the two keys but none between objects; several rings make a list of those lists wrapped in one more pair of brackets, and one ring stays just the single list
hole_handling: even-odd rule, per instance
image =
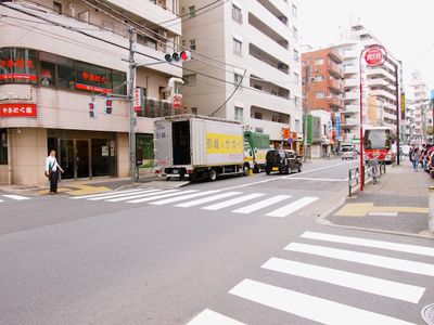
[{"label": "pale overcast sky above the buildings", "polygon": [[301,46],[335,43],[339,26],[352,11],[403,62],[405,83],[419,69],[434,89],[434,0],[298,0]]}]

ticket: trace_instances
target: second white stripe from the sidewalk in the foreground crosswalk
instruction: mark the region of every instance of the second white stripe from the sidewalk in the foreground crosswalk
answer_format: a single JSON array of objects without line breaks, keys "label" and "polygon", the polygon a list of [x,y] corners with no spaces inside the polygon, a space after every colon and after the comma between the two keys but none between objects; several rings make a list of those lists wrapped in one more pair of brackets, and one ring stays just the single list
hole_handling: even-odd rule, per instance
[{"label": "second white stripe from the sidewalk in the foreground crosswalk", "polygon": [[382,257],[366,252],[358,252],[352,250],[329,248],[315,245],[306,245],[299,243],[291,243],[288,245],[285,250],[298,251],[304,253],[310,253],[315,256],[328,257],[331,259],[337,259],[343,261],[350,261],[355,263],[368,264],[384,269],[397,270],[403,272],[409,272],[414,274],[422,274],[427,276],[434,276],[434,265],[400,260],[395,258]]}]

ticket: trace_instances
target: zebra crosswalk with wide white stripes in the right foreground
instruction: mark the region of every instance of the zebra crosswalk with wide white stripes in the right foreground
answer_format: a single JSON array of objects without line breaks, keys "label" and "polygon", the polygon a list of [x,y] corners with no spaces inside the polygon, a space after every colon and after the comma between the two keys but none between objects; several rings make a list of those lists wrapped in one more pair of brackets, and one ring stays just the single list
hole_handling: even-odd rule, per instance
[{"label": "zebra crosswalk with wide white stripes in the right foreground", "polygon": [[[306,240],[311,243],[299,243]],[[332,245],[340,246],[340,248],[330,247]],[[358,251],[359,249],[362,249],[363,252]],[[365,252],[367,250],[372,250],[375,253]],[[283,311],[321,324],[413,324],[411,322],[419,320],[420,314],[417,304],[426,292],[426,288],[420,286],[421,282],[418,283],[419,285],[411,284],[411,282],[417,282],[413,275],[424,276],[426,284],[432,283],[434,277],[434,263],[416,261],[420,256],[434,257],[434,248],[432,247],[305,232],[298,240],[284,247],[283,251],[294,252],[294,255],[291,255],[292,259],[272,257],[261,265],[261,269],[266,272],[288,275],[289,280],[292,281],[297,278],[297,285],[293,283],[294,289],[292,289],[290,281],[283,288],[245,278],[230,289],[229,294],[243,301],[258,303],[271,310]],[[387,257],[386,255],[391,252],[403,252],[403,256],[407,259]],[[310,259],[306,258],[311,256],[320,257],[319,261],[327,265],[318,265],[318,260],[315,260],[315,264],[310,263]],[[295,260],[296,257],[297,260]],[[305,260],[309,260],[309,262]],[[358,270],[356,272],[339,270],[333,263],[334,260],[344,263],[342,269],[354,265],[363,265],[363,268],[349,268],[350,270]],[[433,261],[433,259],[429,259],[429,261]],[[362,271],[359,271],[367,268],[375,272],[362,274]],[[386,270],[394,276],[386,280],[384,272],[382,277],[372,276],[379,270]],[[270,278],[270,275],[267,278]],[[403,282],[396,281],[396,278]],[[306,289],[308,292],[303,292],[301,288],[308,287],[309,282],[310,285],[314,282],[317,290]],[[301,285],[301,283],[305,283],[305,285]],[[330,288],[330,285],[335,286],[336,289],[341,288],[341,292],[342,289],[347,290],[348,297],[353,295],[354,300],[346,304],[339,297],[335,297],[336,301],[333,298],[324,299],[321,297],[321,286]],[[318,297],[316,292],[318,292]],[[372,306],[384,303],[384,309],[380,309],[384,311],[390,310],[388,306],[395,301],[408,304],[406,310],[413,308],[413,317],[411,318],[411,313],[407,313],[410,318],[401,320],[390,313],[383,314],[367,310],[366,304],[358,299],[357,292],[369,295]],[[253,307],[250,310],[254,310]],[[209,309],[204,310],[188,323],[188,325],[204,324],[244,323]]]}]

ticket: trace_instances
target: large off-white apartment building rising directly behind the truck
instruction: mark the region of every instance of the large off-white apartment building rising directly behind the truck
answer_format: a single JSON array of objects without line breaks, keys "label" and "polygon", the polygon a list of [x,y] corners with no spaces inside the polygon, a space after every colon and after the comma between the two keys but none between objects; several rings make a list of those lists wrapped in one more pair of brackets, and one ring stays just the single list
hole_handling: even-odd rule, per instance
[{"label": "large off-white apartment building rising directly behind the truck", "polygon": [[297,2],[213,2],[180,1],[181,15],[190,16],[182,23],[182,46],[195,57],[183,65],[186,109],[240,120],[279,147],[282,129],[290,128],[284,145],[296,148],[303,136]]}]

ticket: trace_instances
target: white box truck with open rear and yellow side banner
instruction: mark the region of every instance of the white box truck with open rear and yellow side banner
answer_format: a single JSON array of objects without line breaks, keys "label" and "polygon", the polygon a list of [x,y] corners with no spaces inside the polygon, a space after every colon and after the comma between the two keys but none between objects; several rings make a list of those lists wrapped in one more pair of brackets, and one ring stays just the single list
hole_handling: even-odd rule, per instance
[{"label": "white box truck with open rear and yellow side banner", "polygon": [[180,115],[154,121],[155,172],[167,180],[250,173],[244,132],[238,121]]}]

